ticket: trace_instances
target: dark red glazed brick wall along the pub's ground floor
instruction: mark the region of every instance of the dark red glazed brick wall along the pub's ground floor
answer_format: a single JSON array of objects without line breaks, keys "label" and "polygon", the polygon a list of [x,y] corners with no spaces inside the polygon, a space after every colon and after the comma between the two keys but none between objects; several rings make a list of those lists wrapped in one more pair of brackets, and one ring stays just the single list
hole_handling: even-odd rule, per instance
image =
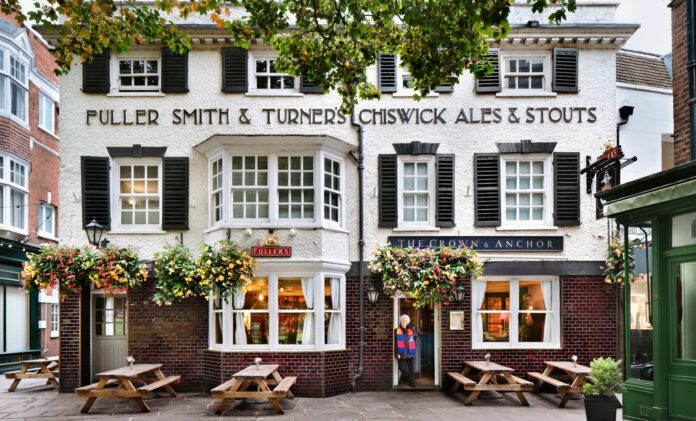
[{"label": "dark red glazed brick wall along the pub's ground floor", "polygon": [[[368,280],[369,281],[369,280]],[[568,360],[577,355],[587,364],[599,356],[616,357],[617,294],[601,277],[561,277],[561,333],[559,350],[472,350],[470,288],[459,304],[443,305],[441,313],[442,382],[448,371],[459,371],[462,361],[481,359],[486,352],[492,360],[527,371],[542,369],[548,359]],[[179,390],[208,391],[253,363],[281,366],[281,374],[297,376],[294,388],[299,396],[331,396],[350,390],[359,356],[359,282],[347,279],[347,331],[345,351],[325,352],[220,352],[208,350],[208,304],[190,300],[159,307],[152,302],[154,283],[128,294],[128,354],[138,362],[163,363],[167,374],[180,374]],[[85,297],[89,297],[85,294]],[[61,303],[61,388],[71,391],[89,382],[88,300],[70,296]],[[365,300],[365,364],[357,380],[358,390],[386,390],[392,387],[393,300],[381,294],[377,303]],[[465,330],[449,330],[449,312],[465,312]],[[80,325],[82,324],[82,327]],[[82,343],[79,337],[82,336]],[[86,343],[85,343],[86,341]],[[82,381],[79,379],[82,378]],[[442,384],[441,382],[441,384]]]}]

